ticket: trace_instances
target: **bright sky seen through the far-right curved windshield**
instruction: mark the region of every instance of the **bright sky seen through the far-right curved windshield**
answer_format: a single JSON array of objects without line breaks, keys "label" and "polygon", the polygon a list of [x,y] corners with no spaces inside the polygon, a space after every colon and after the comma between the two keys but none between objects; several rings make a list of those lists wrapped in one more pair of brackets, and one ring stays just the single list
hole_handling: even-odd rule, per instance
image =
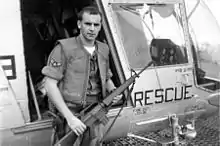
[{"label": "bright sky seen through the far-right curved windshield", "polygon": [[[186,0],[188,10],[193,9],[196,1]],[[204,1],[206,5],[201,2],[193,12],[192,17],[189,18],[190,30],[196,35],[199,44],[220,45],[220,0],[201,1]],[[207,9],[207,6],[209,9]]]}]

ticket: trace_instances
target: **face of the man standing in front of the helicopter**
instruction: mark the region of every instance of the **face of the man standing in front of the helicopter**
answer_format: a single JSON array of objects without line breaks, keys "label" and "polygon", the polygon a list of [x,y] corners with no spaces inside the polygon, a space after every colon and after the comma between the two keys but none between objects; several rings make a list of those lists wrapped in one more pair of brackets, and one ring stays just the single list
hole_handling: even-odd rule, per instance
[{"label": "face of the man standing in front of the helicopter", "polygon": [[82,20],[78,21],[80,33],[87,41],[94,41],[101,29],[101,16],[99,14],[84,13]]}]

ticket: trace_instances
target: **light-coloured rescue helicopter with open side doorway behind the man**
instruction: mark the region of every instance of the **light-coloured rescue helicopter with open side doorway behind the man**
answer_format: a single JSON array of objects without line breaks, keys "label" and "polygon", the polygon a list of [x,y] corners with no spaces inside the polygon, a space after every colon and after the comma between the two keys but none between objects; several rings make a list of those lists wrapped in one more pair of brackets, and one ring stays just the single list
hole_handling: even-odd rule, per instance
[{"label": "light-coloured rescue helicopter with open side doorway behind the man", "polygon": [[0,145],[50,145],[41,69],[56,40],[78,34],[88,4],[103,14],[98,39],[109,45],[117,86],[154,62],[109,110],[104,141],[170,125],[187,131],[174,130],[175,143],[194,138],[195,120],[219,110],[220,28],[202,0],[20,0],[0,6]]}]

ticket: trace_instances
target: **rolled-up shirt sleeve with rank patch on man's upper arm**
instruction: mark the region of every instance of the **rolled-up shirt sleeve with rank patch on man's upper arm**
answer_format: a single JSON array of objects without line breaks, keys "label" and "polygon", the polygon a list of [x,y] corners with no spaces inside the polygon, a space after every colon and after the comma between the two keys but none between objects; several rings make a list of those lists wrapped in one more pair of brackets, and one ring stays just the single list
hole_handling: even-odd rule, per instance
[{"label": "rolled-up shirt sleeve with rank patch on man's upper arm", "polygon": [[61,45],[57,45],[51,52],[47,65],[42,69],[42,74],[50,78],[61,80],[65,67],[65,55]]}]

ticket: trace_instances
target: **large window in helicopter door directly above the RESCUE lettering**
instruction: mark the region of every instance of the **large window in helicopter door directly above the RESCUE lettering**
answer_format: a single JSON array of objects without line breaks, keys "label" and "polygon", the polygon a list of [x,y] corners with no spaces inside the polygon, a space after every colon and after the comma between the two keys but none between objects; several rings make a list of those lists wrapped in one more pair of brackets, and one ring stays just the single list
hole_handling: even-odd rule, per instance
[{"label": "large window in helicopter door directly above the RESCUE lettering", "polygon": [[131,68],[187,63],[178,4],[113,4],[119,37]]}]

